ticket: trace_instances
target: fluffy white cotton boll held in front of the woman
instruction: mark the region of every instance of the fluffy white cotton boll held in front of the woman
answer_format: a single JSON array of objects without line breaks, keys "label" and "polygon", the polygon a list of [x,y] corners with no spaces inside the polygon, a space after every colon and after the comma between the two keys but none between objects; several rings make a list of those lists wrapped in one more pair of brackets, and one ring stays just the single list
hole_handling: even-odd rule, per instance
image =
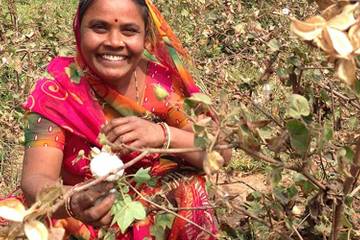
[{"label": "fluffy white cotton boll held in front of the woman", "polygon": [[[90,170],[94,177],[104,177],[116,169],[124,166],[124,163],[119,157],[108,152],[101,152],[97,154],[90,162]],[[121,170],[116,175],[109,176],[106,180],[113,182],[118,180],[124,174],[124,170]]]}]

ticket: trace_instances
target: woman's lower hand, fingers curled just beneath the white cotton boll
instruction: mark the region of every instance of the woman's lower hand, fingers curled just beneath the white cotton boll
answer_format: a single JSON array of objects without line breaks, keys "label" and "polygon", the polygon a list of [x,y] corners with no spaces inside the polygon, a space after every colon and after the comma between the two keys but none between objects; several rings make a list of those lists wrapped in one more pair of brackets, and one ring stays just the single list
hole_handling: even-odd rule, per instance
[{"label": "woman's lower hand, fingers curled just beneath the white cotton boll", "polygon": [[75,193],[70,200],[73,217],[94,227],[110,225],[115,195],[109,191],[113,187],[113,183],[100,183]]}]

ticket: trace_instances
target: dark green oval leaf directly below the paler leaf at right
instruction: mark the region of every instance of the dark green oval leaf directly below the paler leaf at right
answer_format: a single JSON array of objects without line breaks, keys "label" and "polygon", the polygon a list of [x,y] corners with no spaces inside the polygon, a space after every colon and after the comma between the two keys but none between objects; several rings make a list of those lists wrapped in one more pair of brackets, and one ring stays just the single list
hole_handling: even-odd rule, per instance
[{"label": "dark green oval leaf directly below the paler leaf at right", "polygon": [[299,120],[290,120],[286,123],[290,135],[291,146],[295,151],[304,155],[309,147],[311,136],[307,127]]}]

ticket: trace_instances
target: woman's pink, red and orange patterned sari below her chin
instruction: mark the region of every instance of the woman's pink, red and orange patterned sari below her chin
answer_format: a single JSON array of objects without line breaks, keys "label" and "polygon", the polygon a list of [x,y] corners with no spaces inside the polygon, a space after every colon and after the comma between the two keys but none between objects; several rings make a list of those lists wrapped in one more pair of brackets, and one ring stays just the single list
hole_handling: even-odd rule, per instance
[{"label": "woman's pink, red and orange patterned sari below her chin", "polygon": [[[175,81],[171,70],[161,64],[148,63],[146,86],[142,105],[120,95],[103,82],[84,74],[80,79],[69,77],[69,69],[80,69],[75,58],[57,57],[48,66],[51,77],[39,80],[24,108],[55,123],[65,132],[64,158],[61,177],[64,184],[75,185],[92,178],[89,171],[89,160],[74,161],[79,152],[88,156],[92,147],[101,147],[98,140],[100,129],[106,121],[129,115],[148,117],[152,121],[164,121],[177,128],[184,127],[187,117],[182,111],[183,98],[186,89],[180,81]],[[79,70],[80,71],[80,70]],[[169,96],[160,101],[154,93],[154,87],[160,85]],[[50,132],[51,129],[49,129]],[[43,143],[46,147],[46,142]],[[126,162],[139,153],[133,152],[122,157]],[[164,183],[171,192],[178,208],[179,215],[217,233],[213,210],[210,209],[208,195],[205,189],[204,177],[192,170],[191,174],[182,174],[183,169],[189,169],[184,161],[174,156],[170,158],[160,154],[145,157],[127,172],[136,172],[140,167],[150,168],[153,176],[157,176],[155,187],[140,186],[139,191],[144,196],[154,196],[163,191]],[[136,197],[134,195],[134,197]],[[139,200],[140,201],[140,200]],[[143,203],[145,207],[146,204]],[[209,207],[207,209],[206,207]],[[151,226],[156,212],[151,212],[146,220],[136,222],[125,233],[119,234],[117,239],[152,239]],[[78,239],[98,239],[98,231],[80,221],[68,218],[53,221],[54,226],[64,227],[67,236]],[[207,233],[183,219],[176,217],[167,239],[213,239]]]}]

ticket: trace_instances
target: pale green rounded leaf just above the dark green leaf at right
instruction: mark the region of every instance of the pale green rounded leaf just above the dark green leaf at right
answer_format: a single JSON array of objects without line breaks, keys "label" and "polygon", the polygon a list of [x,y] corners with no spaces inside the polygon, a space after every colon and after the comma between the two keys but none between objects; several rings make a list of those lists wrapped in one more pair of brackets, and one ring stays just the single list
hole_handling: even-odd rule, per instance
[{"label": "pale green rounded leaf just above the dark green leaf at right", "polygon": [[310,105],[308,100],[298,94],[293,94],[289,99],[288,115],[295,119],[300,119],[302,116],[310,115]]}]

